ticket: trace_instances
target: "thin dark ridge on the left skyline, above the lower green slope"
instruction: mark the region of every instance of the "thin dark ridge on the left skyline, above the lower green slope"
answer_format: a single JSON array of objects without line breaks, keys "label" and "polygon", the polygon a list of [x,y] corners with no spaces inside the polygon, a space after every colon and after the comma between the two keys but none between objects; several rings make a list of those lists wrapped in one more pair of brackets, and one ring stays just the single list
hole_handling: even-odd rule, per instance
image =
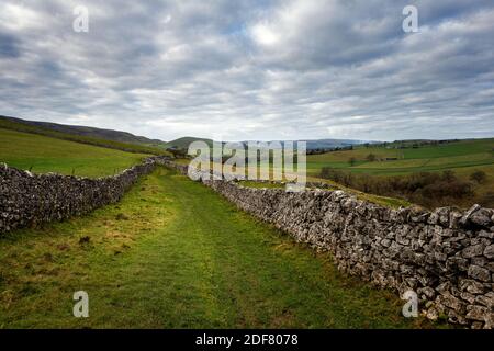
[{"label": "thin dark ridge on the left skyline, above the lower green slope", "polygon": [[50,129],[60,133],[67,133],[72,135],[80,135],[93,138],[101,138],[121,143],[132,143],[132,144],[145,144],[145,145],[159,145],[164,144],[164,141],[159,139],[149,139],[144,136],[137,136],[127,132],[112,131],[112,129],[102,129],[96,127],[88,126],[79,126],[79,125],[65,125],[52,122],[38,122],[38,121],[26,121],[22,118],[0,116],[2,120],[9,120],[15,123],[22,123],[33,126],[43,127],[45,129]]}]

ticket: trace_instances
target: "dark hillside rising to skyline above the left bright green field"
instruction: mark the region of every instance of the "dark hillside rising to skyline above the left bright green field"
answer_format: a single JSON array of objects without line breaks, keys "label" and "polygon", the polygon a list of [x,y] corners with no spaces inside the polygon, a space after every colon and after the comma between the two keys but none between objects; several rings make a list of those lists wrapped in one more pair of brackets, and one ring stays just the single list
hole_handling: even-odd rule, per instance
[{"label": "dark hillside rising to skyline above the left bright green field", "polygon": [[[137,144],[123,143],[123,141],[108,139],[105,137],[100,138],[100,137],[87,136],[87,135],[81,135],[81,134],[72,134],[70,131],[72,131],[72,132],[76,131],[76,129],[72,129],[72,126],[65,126],[65,125],[59,125],[59,124],[48,124],[48,125],[54,125],[59,131],[49,128],[49,126],[43,126],[43,123],[0,116],[0,128],[18,131],[18,132],[23,132],[23,133],[30,133],[30,134],[44,135],[44,136],[48,136],[52,138],[70,140],[70,141],[76,141],[76,143],[81,143],[81,144],[89,144],[89,145],[94,145],[94,146],[101,146],[101,147],[117,149],[117,150],[127,151],[127,152],[168,155],[168,152],[165,151],[162,148],[151,146],[153,140],[150,140],[150,139],[148,139],[150,141],[149,145],[144,145],[144,144],[139,144],[139,143],[137,143]],[[78,128],[78,127],[76,127],[76,128]],[[86,127],[82,127],[82,128],[86,128]],[[60,132],[61,129],[65,132]],[[91,129],[98,129],[98,128],[91,127]],[[98,129],[98,131],[102,131],[102,129]],[[106,132],[110,133],[110,132],[114,132],[114,131],[106,131]],[[101,133],[104,134],[103,132],[101,132]],[[115,132],[115,133],[119,134],[119,133],[124,133],[124,132]]]}]

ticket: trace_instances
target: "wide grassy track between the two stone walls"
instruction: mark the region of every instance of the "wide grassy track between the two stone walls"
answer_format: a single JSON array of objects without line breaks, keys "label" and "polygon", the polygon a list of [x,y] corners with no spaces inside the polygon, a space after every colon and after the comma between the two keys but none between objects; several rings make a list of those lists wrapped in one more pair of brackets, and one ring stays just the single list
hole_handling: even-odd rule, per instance
[{"label": "wide grassy track between the two stone walls", "polygon": [[[89,318],[71,315],[79,290]],[[3,328],[430,327],[402,304],[165,169],[117,205],[0,238]]]}]

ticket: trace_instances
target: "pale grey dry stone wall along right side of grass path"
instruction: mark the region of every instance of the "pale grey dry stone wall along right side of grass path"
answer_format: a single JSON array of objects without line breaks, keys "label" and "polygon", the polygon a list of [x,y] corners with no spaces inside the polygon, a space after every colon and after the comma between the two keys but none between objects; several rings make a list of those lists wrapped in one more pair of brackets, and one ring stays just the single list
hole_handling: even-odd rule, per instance
[{"label": "pale grey dry stone wall along right side of grass path", "polygon": [[340,190],[203,183],[296,240],[330,251],[339,270],[400,294],[413,290],[430,319],[494,326],[494,210],[392,210]]}]

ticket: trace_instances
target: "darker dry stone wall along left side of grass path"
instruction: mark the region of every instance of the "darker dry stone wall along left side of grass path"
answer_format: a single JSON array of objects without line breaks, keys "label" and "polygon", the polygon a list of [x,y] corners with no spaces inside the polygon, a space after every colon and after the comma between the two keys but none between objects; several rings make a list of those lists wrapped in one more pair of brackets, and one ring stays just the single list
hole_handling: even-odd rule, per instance
[{"label": "darker dry stone wall along left side of grass path", "polygon": [[151,157],[120,174],[99,179],[32,174],[0,165],[0,233],[63,220],[115,203],[162,157]]}]

